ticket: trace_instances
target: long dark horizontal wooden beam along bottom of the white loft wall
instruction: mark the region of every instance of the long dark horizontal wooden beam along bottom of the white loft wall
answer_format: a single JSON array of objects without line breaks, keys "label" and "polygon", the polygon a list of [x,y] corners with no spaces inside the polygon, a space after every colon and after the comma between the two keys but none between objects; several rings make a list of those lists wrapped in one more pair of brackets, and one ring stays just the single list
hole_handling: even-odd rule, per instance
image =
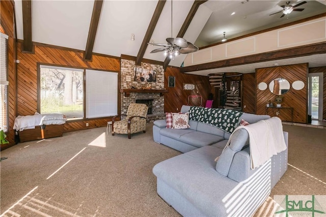
[{"label": "long dark horizontal wooden beam along bottom of the white loft wall", "polygon": [[313,54],[326,53],[326,42],[316,43],[311,45],[304,45],[293,48],[286,48],[282,50],[270,51],[265,53],[257,53],[249,56],[241,56],[231,59],[214,61],[212,63],[199,64],[194,66],[182,67],[180,72],[195,72],[208,69],[224,68],[231,66],[239,66],[244,64],[254,64],[264,61],[287,59],[300,56],[309,56]]}]

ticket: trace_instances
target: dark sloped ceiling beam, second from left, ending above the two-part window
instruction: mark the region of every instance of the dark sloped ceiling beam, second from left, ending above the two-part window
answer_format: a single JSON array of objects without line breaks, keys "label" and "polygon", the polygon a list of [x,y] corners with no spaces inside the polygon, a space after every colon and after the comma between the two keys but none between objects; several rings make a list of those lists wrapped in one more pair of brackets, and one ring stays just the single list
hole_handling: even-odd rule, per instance
[{"label": "dark sloped ceiling beam, second from left, ending above the two-part window", "polygon": [[84,53],[84,60],[91,61],[93,54],[93,47],[97,32],[97,26],[101,15],[103,0],[95,0],[93,6],[92,19],[90,24],[90,29],[88,32],[88,38],[86,43],[86,49]]}]

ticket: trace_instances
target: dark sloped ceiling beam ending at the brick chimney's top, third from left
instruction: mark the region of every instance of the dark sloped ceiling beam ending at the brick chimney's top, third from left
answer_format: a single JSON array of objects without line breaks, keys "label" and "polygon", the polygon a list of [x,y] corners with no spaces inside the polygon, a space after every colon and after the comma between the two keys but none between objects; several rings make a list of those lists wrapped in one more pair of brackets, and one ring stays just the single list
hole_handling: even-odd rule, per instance
[{"label": "dark sloped ceiling beam ending at the brick chimney's top, third from left", "polygon": [[155,26],[157,24],[159,16],[162,13],[162,10],[164,8],[165,3],[166,3],[166,0],[159,0],[157,5],[156,5],[156,9],[155,9],[154,14],[152,16],[152,19],[151,19],[151,21],[150,21],[150,23],[148,25],[147,32],[146,32],[145,37],[143,39],[143,43],[142,43],[141,48],[139,49],[137,57],[136,57],[136,65],[138,65],[138,66],[140,66],[141,63],[142,63],[142,59],[144,57],[145,51],[146,51],[147,46],[148,46],[147,43],[149,42],[149,40],[151,39],[151,37],[153,35]]}]

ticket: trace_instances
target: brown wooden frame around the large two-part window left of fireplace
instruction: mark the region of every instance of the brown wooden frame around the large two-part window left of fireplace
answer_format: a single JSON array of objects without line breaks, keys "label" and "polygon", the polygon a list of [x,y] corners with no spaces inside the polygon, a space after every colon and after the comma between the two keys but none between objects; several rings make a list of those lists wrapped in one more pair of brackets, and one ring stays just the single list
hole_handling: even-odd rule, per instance
[{"label": "brown wooden frame around the large two-part window left of fireplace", "polygon": [[96,70],[96,71],[104,71],[104,72],[112,72],[112,73],[118,73],[118,80],[117,80],[117,111],[119,113],[120,111],[120,73],[119,71],[114,70],[102,70],[102,69],[93,69],[93,68],[83,68],[83,67],[74,67],[74,66],[63,66],[63,65],[56,65],[56,64],[44,64],[44,63],[37,63],[37,112],[40,113],[41,110],[41,68],[40,66],[49,66],[49,67],[60,67],[60,68],[70,68],[70,69],[78,69],[78,70],[84,70],[83,72],[83,107],[84,107],[84,114],[83,118],[78,119],[69,119],[66,122],[77,122],[77,121],[85,121],[85,120],[96,120],[96,119],[105,119],[110,118],[112,116],[106,116],[106,117],[94,117],[94,118],[86,118],[86,70]]}]

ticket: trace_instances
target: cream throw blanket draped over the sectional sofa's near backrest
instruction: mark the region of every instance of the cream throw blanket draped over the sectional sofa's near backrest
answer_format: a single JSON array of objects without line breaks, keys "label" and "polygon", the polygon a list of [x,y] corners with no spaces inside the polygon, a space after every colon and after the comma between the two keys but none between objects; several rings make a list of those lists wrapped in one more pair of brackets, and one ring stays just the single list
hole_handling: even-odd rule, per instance
[{"label": "cream throw blanket draped over the sectional sofa's near backrest", "polygon": [[273,157],[274,154],[286,150],[282,121],[280,118],[271,117],[251,125],[240,126],[236,128],[234,132],[242,128],[246,129],[249,134],[251,169],[263,165]]}]

